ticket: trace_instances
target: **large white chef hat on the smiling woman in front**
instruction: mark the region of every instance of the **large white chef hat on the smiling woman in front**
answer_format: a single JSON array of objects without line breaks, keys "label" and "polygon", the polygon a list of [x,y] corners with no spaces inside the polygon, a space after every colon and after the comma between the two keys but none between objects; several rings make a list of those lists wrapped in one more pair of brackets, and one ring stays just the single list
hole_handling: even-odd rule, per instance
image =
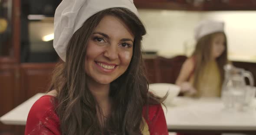
[{"label": "large white chef hat on the smiling woman in front", "polygon": [[66,48],[72,35],[83,23],[102,10],[123,7],[138,16],[133,0],[62,0],[54,15],[53,47],[66,61]]}]

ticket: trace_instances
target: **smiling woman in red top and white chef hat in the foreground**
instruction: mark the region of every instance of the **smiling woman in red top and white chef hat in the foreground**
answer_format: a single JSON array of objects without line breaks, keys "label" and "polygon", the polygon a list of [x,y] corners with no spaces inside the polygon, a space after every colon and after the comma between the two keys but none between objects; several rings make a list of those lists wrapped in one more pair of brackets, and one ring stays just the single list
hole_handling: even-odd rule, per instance
[{"label": "smiling woman in red top and white chef hat in the foreground", "polygon": [[163,99],[148,93],[146,31],[132,0],[62,0],[54,29],[62,61],[25,135],[168,135]]}]

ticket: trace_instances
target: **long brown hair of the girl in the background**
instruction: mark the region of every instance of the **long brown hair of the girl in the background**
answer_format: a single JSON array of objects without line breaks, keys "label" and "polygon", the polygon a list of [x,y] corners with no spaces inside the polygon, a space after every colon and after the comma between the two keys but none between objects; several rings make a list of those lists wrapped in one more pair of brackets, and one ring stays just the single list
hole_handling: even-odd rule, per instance
[{"label": "long brown hair of the girl in the background", "polygon": [[[199,76],[203,74],[203,68],[207,64],[207,62],[211,59],[212,52],[212,44],[213,38],[216,37],[217,34],[223,33],[224,35],[224,46],[225,50],[223,53],[216,59],[218,68],[220,71],[220,82],[224,80],[224,69],[223,66],[228,63],[227,60],[227,39],[224,32],[214,32],[209,35],[205,35],[197,41],[196,48],[192,54],[192,57],[195,58],[196,64],[194,67],[194,88],[198,90],[198,84],[200,83]],[[221,84],[222,85],[222,84]],[[221,88],[221,85],[219,86]]]}]

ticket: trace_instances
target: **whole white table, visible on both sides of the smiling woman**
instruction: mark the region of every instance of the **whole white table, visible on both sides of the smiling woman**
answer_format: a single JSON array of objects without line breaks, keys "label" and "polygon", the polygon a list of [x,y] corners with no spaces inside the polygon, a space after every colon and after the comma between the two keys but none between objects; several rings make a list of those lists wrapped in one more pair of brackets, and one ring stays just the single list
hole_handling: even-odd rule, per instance
[{"label": "whole white table, visible on both sides of the smiling woman", "polygon": [[[33,103],[44,93],[38,93],[20,104],[0,121],[7,125],[26,125],[26,118]],[[164,109],[169,131],[255,131],[256,100],[254,110],[249,112],[228,112],[219,98],[191,99],[177,97],[172,106]],[[255,134],[256,135],[256,134]]]}]

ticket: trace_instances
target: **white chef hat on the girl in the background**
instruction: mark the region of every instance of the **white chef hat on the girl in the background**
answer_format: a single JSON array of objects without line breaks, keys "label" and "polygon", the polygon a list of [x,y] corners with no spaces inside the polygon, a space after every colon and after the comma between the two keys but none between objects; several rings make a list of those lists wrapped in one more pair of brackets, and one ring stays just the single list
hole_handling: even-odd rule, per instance
[{"label": "white chef hat on the girl in the background", "polygon": [[195,39],[198,40],[203,36],[214,32],[224,32],[224,22],[203,20],[195,27]]}]

